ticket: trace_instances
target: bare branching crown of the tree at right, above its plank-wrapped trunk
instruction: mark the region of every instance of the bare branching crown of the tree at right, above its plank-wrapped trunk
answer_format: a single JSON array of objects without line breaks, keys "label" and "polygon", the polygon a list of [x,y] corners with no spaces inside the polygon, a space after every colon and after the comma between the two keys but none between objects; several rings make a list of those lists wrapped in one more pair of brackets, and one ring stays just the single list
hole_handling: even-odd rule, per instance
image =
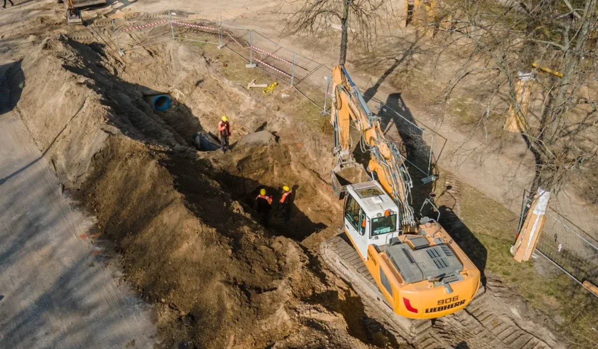
[{"label": "bare branching crown of the tree at right, above its plank-wrapped trunk", "polygon": [[[558,192],[573,172],[588,169],[598,153],[597,0],[460,0],[443,11],[453,22],[443,45],[459,43],[469,57],[439,98],[449,101],[466,77],[489,72],[496,87],[481,117],[496,96],[514,107],[536,158],[536,187]],[[517,96],[518,74],[532,63],[551,68],[535,74],[545,99],[534,120]]]}]

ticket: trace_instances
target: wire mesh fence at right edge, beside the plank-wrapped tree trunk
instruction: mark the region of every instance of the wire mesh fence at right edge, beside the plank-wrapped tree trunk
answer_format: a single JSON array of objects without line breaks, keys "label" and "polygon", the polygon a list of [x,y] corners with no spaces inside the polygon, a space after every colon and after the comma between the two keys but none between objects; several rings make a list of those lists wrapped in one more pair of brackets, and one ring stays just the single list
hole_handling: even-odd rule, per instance
[{"label": "wire mesh fence at right edge, beside the plank-wrapped tree trunk", "polygon": [[[524,198],[519,230],[532,204]],[[598,285],[598,241],[548,207],[536,251],[557,265],[578,283]]]}]

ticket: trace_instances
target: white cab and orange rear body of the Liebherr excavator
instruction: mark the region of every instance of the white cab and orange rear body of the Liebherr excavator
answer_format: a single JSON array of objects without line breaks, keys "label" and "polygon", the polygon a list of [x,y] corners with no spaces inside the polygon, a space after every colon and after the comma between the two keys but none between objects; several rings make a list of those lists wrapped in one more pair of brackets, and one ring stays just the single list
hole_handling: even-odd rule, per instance
[{"label": "white cab and orange rear body of the Liebherr excavator", "polygon": [[346,186],[344,230],[395,314],[435,318],[465,308],[480,274],[436,221],[401,230],[401,210],[377,181]]}]

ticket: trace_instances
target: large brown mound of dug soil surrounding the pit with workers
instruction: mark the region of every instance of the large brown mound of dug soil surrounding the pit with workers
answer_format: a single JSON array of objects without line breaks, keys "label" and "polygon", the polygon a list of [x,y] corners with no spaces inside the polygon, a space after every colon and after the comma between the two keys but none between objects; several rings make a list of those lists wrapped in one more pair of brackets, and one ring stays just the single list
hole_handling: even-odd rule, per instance
[{"label": "large brown mound of dug soil surrounding the pit with workers", "polygon": [[[216,74],[200,48],[176,43],[122,58],[51,37],[21,68],[20,116],[116,243],[127,281],[155,304],[158,347],[396,345],[297,242],[337,226],[324,179],[331,140],[285,116],[277,97],[251,95]],[[145,97],[161,92],[173,106],[158,113]],[[191,135],[215,133],[222,114],[233,151],[197,151]],[[260,128],[271,139],[243,139]],[[291,222],[264,229],[252,197],[283,184],[295,189]]]}]

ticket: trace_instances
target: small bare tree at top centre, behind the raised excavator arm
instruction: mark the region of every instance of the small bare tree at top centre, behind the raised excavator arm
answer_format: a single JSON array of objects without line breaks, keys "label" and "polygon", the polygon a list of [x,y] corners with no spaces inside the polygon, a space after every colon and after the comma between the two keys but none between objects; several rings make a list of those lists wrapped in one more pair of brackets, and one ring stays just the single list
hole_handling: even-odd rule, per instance
[{"label": "small bare tree at top centre, behind the raised excavator arm", "polygon": [[349,32],[353,40],[370,48],[384,15],[388,0],[288,0],[298,10],[288,13],[286,29],[292,33],[318,34],[329,31],[333,23],[340,23],[341,39],[338,63],[347,58]]}]

